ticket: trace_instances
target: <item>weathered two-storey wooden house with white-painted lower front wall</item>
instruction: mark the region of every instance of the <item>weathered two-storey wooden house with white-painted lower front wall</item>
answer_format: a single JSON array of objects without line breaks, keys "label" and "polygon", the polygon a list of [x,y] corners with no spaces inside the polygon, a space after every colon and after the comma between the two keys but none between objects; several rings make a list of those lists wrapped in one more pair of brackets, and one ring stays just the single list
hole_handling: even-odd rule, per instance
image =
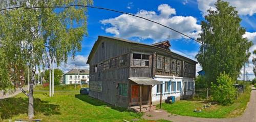
[{"label": "weathered two-storey wooden house with white-painted lower front wall", "polygon": [[170,51],[169,41],[147,45],[99,36],[87,64],[89,95],[112,105],[151,105],[195,93],[197,62]]}]

